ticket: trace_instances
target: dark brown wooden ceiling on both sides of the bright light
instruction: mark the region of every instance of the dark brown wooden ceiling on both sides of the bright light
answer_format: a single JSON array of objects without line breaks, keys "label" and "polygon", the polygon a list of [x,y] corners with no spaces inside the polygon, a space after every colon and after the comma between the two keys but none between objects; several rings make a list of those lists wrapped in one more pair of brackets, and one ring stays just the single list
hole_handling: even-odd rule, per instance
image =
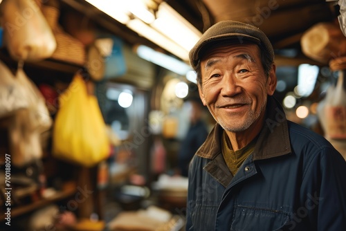
[{"label": "dark brown wooden ceiling on both sides of the bright light", "polygon": [[[158,48],[84,0],[61,1],[63,6],[90,17],[96,24],[122,37],[129,44]],[[159,3],[162,0],[154,1]],[[201,32],[217,21],[228,19],[253,24],[268,35],[275,49],[296,49],[297,62],[307,61],[300,51],[302,34],[318,22],[334,21],[338,12],[334,3],[325,0],[167,0],[167,3]],[[312,60],[310,62],[313,63]]]}]

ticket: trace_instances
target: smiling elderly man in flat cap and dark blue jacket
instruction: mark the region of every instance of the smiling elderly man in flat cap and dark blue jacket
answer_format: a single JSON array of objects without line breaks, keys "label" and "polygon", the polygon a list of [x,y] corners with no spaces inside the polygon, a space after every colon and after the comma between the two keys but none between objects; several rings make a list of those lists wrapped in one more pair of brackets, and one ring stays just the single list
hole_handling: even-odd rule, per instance
[{"label": "smiling elderly man in flat cap and dark blue jacket", "polygon": [[345,160],[286,120],[273,59],[266,35],[237,21],[190,50],[217,124],[190,163],[186,230],[346,230]]}]

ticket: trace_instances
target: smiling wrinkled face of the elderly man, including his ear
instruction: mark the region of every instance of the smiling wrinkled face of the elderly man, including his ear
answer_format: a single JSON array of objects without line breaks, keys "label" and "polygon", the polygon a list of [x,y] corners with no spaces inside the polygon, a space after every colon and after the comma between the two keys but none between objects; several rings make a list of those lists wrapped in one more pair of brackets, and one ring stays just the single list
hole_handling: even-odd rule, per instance
[{"label": "smiling wrinkled face of the elderly man, including his ear", "polygon": [[201,100],[227,131],[245,131],[262,123],[267,95],[276,86],[275,66],[264,74],[260,49],[255,44],[213,48],[201,59]]}]

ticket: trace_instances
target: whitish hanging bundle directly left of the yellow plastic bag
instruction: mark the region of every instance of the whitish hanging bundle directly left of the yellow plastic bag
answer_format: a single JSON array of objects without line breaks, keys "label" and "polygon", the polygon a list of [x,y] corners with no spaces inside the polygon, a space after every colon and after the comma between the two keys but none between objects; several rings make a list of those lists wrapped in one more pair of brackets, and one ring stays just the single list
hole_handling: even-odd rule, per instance
[{"label": "whitish hanging bundle directly left of the yellow plastic bag", "polygon": [[22,167],[42,157],[41,134],[51,129],[52,119],[44,97],[21,67],[15,76],[16,87],[21,88],[21,98],[28,104],[15,111],[8,124],[9,149],[12,165]]}]

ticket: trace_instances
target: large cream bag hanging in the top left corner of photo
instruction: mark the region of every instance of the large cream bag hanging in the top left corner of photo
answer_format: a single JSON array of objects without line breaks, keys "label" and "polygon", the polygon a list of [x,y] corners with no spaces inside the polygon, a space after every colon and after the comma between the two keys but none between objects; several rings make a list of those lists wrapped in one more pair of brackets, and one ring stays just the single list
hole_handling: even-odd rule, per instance
[{"label": "large cream bag hanging in the top left corner of photo", "polygon": [[0,5],[3,43],[15,60],[51,57],[57,44],[35,0],[3,0]]}]

